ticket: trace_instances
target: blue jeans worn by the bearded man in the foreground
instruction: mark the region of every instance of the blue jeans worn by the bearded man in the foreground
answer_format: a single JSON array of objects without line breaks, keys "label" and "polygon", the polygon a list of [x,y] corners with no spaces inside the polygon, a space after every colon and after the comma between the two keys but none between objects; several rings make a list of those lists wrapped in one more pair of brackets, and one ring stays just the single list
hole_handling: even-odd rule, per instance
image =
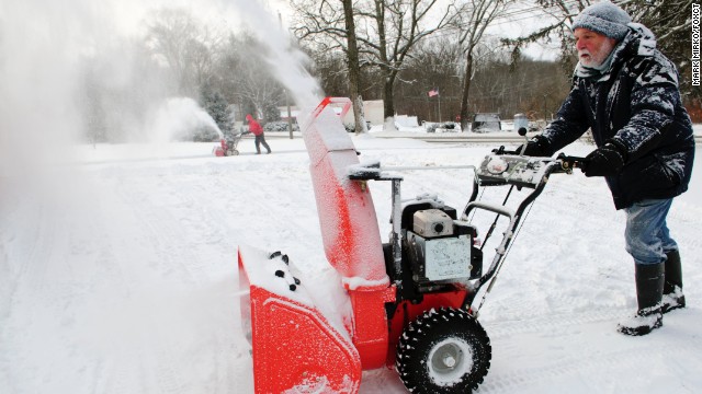
[{"label": "blue jeans worn by the bearded man in the foreground", "polygon": [[666,224],[671,204],[672,198],[647,199],[624,208],[626,252],[636,264],[664,263],[666,253],[678,250]]}]

